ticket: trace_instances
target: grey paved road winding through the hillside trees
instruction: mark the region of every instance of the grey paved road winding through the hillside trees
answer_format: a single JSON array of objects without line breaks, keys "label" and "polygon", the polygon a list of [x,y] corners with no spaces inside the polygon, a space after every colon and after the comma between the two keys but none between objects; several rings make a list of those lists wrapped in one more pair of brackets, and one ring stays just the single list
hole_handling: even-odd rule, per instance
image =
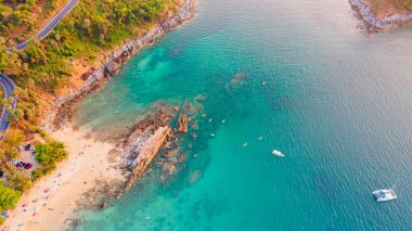
[{"label": "grey paved road winding through the hillside trees", "polygon": [[[78,0],[70,0],[63,9],[60,11],[50,23],[42,28],[36,36],[39,40],[44,38],[56,25],[57,23],[68,13],[72,11],[72,9],[76,5]],[[30,39],[29,39],[30,40]],[[14,49],[22,50],[27,48],[27,42],[22,42],[14,47]],[[12,50],[13,48],[9,48],[9,50]],[[16,88],[16,85],[12,79],[10,79],[8,76],[0,73],[0,86],[4,90],[5,98],[13,97],[13,91]],[[16,107],[16,101],[12,104],[13,108]],[[10,116],[10,112],[3,106],[0,115],[0,140],[4,138],[4,134],[7,130],[10,127],[10,123],[8,121],[8,118]]]}]

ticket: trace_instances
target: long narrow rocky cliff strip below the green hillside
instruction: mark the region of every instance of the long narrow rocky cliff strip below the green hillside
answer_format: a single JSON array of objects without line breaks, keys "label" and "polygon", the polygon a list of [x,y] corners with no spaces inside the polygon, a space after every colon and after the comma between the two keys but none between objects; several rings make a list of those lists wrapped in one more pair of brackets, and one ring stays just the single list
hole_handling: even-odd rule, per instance
[{"label": "long narrow rocky cliff strip below the green hillside", "polygon": [[143,34],[140,38],[126,42],[119,50],[113,52],[106,59],[104,64],[94,70],[87,79],[86,84],[77,91],[69,93],[56,100],[57,105],[80,98],[94,88],[100,81],[110,78],[117,74],[119,67],[125,64],[130,57],[140,51],[144,46],[153,43],[157,38],[165,33],[182,25],[194,15],[194,1],[184,0],[179,11],[170,18],[156,24],[153,29]]}]

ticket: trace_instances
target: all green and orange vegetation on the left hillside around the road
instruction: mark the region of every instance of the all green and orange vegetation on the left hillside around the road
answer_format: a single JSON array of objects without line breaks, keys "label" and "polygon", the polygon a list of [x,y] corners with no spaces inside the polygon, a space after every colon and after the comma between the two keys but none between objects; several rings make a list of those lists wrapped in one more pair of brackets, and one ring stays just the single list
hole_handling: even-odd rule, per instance
[{"label": "all green and orange vegetation on the left hillside around the road", "polygon": [[[0,185],[2,209],[14,206],[33,181],[53,171],[56,163],[68,156],[64,144],[49,139],[39,125],[46,114],[41,108],[50,103],[47,95],[68,84],[73,61],[92,63],[104,51],[136,38],[177,10],[175,0],[81,0],[47,38],[30,40],[22,51],[9,51],[7,48],[15,44],[10,39],[14,38],[14,30],[24,27],[27,27],[25,33],[33,30],[37,22],[30,15],[39,8],[47,15],[55,7],[53,2],[59,1],[0,0],[0,72],[20,87],[14,91],[18,103],[10,117],[11,129],[0,141],[0,159],[9,163],[18,157],[15,147],[33,139],[34,133],[46,140],[36,144],[36,161],[41,168],[33,170],[31,178],[11,164],[1,167],[8,176],[5,184]],[[1,102],[12,111],[13,99]]]}]

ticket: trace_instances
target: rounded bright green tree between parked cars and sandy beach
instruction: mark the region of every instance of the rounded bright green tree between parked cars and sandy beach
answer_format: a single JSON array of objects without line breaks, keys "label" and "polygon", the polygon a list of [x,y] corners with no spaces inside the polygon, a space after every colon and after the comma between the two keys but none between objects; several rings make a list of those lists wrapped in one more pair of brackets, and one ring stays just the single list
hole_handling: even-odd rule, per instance
[{"label": "rounded bright green tree between parked cars and sandy beach", "polygon": [[47,143],[37,144],[35,151],[36,161],[46,167],[54,166],[57,162],[68,156],[64,143],[56,140],[49,140]]}]

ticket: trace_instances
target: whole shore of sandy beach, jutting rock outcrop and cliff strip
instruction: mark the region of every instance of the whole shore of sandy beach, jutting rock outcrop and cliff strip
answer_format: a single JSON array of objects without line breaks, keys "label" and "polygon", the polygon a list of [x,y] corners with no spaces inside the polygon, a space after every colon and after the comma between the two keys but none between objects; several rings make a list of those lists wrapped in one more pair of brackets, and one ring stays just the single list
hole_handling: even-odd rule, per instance
[{"label": "whole shore of sandy beach, jutting rock outcrop and cliff strip", "polygon": [[[70,219],[75,209],[83,206],[106,208],[108,200],[119,197],[137,179],[149,174],[150,164],[162,146],[179,153],[176,145],[178,129],[172,128],[173,119],[178,119],[176,107],[159,106],[139,121],[127,139],[120,139],[116,144],[94,140],[89,132],[69,121],[75,102],[116,75],[120,66],[144,46],[193,16],[194,0],[183,0],[168,20],[125,42],[106,57],[102,66],[82,74],[80,87],[72,88],[68,94],[55,100],[44,118],[44,127],[51,131],[51,137],[65,141],[69,159],[61,163],[55,172],[41,179],[22,197],[16,208],[10,211],[12,218],[7,220],[5,227],[12,230],[57,230],[64,223],[75,224],[77,220]],[[173,167],[165,162],[162,169],[169,174]]]}]

